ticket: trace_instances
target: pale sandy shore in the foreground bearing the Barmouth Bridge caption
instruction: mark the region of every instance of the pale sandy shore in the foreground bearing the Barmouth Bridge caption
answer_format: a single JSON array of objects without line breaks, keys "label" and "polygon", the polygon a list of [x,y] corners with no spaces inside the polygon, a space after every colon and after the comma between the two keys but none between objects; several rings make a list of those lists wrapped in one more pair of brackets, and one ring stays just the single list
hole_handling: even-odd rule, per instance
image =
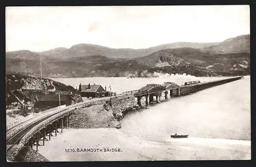
[{"label": "pale sandy shore in the foreground bearing the Barmouth Bridge caption", "polygon": [[39,146],[38,152],[50,161],[242,160],[251,159],[251,142],[166,138],[166,142],[158,143],[114,128],[64,129]]}]

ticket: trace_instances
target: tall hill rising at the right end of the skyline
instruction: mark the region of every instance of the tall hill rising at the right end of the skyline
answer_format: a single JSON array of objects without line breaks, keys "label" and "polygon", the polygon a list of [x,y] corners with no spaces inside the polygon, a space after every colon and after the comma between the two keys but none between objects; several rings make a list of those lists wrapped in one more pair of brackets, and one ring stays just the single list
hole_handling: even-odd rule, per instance
[{"label": "tall hill rising at the right end of the skyline", "polygon": [[217,45],[205,47],[202,50],[218,53],[250,52],[250,35],[229,38]]}]

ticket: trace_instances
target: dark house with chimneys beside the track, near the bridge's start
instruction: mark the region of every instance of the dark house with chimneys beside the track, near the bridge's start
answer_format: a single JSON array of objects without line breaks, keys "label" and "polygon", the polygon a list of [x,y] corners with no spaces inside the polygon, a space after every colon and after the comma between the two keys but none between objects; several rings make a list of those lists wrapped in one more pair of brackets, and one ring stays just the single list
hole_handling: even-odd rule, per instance
[{"label": "dark house with chimneys beside the track, near the bridge's start", "polygon": [[[106,89],[106,88],[105,88]],[[79,85],[78,92],[82,97],[104,97],[106,90],[100,85]]]}]

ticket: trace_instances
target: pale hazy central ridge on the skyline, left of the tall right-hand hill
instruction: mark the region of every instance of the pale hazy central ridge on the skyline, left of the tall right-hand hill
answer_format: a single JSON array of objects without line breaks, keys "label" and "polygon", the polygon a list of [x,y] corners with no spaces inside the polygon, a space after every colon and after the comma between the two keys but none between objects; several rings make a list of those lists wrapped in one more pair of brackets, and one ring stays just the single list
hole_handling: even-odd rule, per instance
[{"label": "pale hazy central ridge on the skyline, left of the tall right-hand hill", "polygon": [[175,42],[170,44],[159,45],[155,47],[150,47],[146,49],[130,49],[121,48],[114,49],[100,45],[93,44],[77,44],[68,48],[55,48],[48,51],[40,52],[41,54],[51,55],[54,58],[71,58],[71,57],[84,57],[89,55],[104,55],[109,58],[138,58],[144,55],[151,54],[158,50],[166,48],[181,48],[181,47],[192,47],[192,48],[204,48],[213,44],[218,43],[193,43],[193,42]]}]

